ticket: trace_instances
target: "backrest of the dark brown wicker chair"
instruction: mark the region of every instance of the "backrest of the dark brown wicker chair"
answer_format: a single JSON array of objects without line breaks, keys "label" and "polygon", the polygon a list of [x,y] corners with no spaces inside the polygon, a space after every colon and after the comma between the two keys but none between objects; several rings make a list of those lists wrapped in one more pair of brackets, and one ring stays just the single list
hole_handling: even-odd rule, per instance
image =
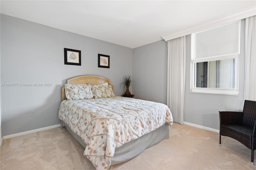
[{"label": "backrest of the dark brown wicker chair", "polygon": [[256,121],[256,101],[245,100],[243,113],[243,124],[253,127],[254,121]]}]

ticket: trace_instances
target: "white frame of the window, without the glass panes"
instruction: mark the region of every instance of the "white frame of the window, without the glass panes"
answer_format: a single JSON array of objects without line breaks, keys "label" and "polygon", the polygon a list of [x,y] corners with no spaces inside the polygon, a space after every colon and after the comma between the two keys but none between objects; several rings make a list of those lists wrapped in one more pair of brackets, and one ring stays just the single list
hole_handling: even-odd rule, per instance
[{"label": "white frame of the window, without the glass panes", "polygon": [[[191,63],[190,63],[190,68],[191,68],[191,75],[190,75],[190,92],[191,93],[208,93],[208,94],[219,94],[219,95],[239,95],[239,57],[240,57],[240,30],[241,30],[241,21],[236,21],[238,23],[238,52],[237,53],[230,53],[230,54],[225,54],[225,55],[216,55],[216,56],[210,56],[210,57],[202,57],[202,58],[196,58],[196,34],[200,33],[194,33],[191,34]],[[234,22],[232,22],[234,23]],[[229,24],[232,24],[229,23]],[[228,25],[228,24],[225,24]],[[222,26],[225,26],[222,25]],[[219,27],[222,27],[219,26]],[[215,27],[218,28],[218,27]],[[212,29],[215,29],[212,28]],[[212,30],[208,29],[208,30]],[[207,31],[207,30],[204,30]],[[201,32],[204,32],[201,31]],[[196,63],[200,62],[206,62],[206,61],[217,61],[217,60],[226,60],[226,59],[236,59],[236,77],[235,77],[235,89],[224,89],[224,88],[206,88],[206,87],[195,87],[195,69],[196,69]]]}]

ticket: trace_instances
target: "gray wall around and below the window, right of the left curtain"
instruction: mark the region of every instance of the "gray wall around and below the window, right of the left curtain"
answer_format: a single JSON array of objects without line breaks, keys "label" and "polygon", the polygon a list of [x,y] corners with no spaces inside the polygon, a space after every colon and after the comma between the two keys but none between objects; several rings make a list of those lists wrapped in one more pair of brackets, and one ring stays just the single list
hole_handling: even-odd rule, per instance
[{"label": "gray wall around and below the window, right of the left curtain", "polygon": [[242,111],[244,106],[244,49],[241,50],[240,54],[239,95],[190,93],[190,40],[191,36],[186,36],[184,121],[219,129],[219,111]]}]

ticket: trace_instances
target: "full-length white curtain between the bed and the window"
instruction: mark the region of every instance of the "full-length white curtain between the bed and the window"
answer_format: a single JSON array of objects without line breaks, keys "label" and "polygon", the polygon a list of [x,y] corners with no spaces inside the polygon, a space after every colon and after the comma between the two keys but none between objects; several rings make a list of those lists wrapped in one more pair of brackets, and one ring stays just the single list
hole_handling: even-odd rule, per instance
[{"label": "full-length white curtain between the bed and the window", "polygon": [[173,121],[184,122],[184,91],[186,69],[186,37],[167,42],[168,73],[167,73],[167,106],[173,115]]}]

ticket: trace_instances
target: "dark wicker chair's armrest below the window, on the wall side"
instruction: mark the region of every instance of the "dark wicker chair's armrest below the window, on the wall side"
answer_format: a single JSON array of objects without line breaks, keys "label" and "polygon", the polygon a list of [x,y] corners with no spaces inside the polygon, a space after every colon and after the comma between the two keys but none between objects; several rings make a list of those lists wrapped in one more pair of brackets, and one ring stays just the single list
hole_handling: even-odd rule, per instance
[{"label": "dark wicker chair's armrest below the window, on the wall side", "polygon": [[243,112],[219,111],[220,125],[224,124],[242,124]]}]

